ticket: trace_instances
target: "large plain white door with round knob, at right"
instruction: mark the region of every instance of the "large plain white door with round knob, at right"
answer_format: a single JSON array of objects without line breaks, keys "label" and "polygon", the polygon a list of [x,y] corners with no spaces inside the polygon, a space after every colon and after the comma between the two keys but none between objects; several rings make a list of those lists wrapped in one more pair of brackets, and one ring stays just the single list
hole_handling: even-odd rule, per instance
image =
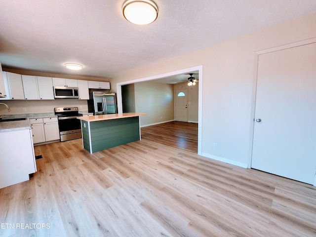
[{"label": "large plain white door with round knob, at right", "polygon": [[315,185],[315,118],[316,43],[259,55],[251,167]]}]

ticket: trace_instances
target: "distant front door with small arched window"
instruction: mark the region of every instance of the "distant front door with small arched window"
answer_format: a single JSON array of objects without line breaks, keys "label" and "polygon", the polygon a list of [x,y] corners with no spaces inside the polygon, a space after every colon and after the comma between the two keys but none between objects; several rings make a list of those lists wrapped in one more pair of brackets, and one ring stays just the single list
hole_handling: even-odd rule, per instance
[{"label": "distant front door with small arched window", "polygon": [[176,90],[176,120],[188,121],[188,89]]}]

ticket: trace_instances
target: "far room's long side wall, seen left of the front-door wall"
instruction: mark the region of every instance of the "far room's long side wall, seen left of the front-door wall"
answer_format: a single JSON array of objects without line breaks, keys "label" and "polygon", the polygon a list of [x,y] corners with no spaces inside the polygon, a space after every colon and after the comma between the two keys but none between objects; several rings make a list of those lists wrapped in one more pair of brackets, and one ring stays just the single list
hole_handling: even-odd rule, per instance
[{"label": "far room's long side wall, seen left of the front-door wall", "polygon": [[141,126],[174,120],[172,84],[147,81],[134,86],[136,113],[148,113],[141,116]]}]

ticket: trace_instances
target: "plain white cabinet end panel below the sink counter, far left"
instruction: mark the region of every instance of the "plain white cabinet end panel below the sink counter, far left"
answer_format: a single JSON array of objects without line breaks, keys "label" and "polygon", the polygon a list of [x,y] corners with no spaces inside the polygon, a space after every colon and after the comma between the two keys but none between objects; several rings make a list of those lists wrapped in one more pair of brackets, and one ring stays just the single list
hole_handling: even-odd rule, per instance
[{"label": "plain white cabinet end panel below the sink counter, far left", "polygon": [[30,129],[0,132],[0,189],[29,180],[37,171]]}]

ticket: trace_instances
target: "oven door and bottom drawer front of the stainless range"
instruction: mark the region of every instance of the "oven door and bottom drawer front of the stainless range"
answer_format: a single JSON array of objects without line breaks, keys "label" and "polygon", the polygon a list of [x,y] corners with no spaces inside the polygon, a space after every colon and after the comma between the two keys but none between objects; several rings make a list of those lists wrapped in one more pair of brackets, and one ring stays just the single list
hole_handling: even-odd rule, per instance
[{"label": "oven door and bottom drawer front of the stainless range", "polygon": [[77,117],[58,117],[61,142],[81,138],[81,123]]}]

